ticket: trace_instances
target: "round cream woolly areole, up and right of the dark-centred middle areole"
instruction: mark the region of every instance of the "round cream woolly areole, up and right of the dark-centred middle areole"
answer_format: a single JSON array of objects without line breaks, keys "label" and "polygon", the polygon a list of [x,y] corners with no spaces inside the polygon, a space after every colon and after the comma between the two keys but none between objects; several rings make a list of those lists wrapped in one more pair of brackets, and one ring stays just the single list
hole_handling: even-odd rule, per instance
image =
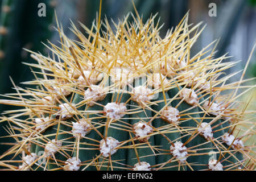
[{"label": "round cream woolly areole, up and right of the dark-centred middle areole", "polygon": [[164,121],[169,123],[177,123],[179,122],[179,110],[175,107],[167,106],[164,110],[161,111],[160,116]]}]

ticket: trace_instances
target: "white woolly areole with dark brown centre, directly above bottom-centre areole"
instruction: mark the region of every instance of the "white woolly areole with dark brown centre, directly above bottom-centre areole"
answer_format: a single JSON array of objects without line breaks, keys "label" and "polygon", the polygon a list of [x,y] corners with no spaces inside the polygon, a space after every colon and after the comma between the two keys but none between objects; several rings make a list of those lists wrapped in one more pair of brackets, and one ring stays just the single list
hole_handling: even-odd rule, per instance
[{"label": "white woolly areole with dark brown centre, directly above bottom-centre areole", "polygon": [[[152,127],[148,125],[148,123],[144,123],[142,121],[139,121],[133,125],[133,132],[135,134],[135,137],[145,137],[149,134],[151,134],[153,131]],[[150,137],[146,137],[141,139],[141,142],[146,142]]]}]

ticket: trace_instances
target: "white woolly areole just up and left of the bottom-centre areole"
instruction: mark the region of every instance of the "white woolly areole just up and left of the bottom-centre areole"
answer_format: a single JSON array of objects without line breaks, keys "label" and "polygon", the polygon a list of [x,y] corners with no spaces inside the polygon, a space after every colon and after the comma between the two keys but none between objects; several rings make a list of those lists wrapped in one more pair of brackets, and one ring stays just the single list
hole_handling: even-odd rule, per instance
[{"label": "white woolly areole just up and left of the bottom-centre areole", "polygon": [[113,137],[107,137],[106,142],[105,139],[102,139],[100,141],[100,152],[102,156],[105,158],[108,158],[110,155],[115,154],[117,152],[117,149],[114,149],[119,144],[119,141],[114,139]]}]

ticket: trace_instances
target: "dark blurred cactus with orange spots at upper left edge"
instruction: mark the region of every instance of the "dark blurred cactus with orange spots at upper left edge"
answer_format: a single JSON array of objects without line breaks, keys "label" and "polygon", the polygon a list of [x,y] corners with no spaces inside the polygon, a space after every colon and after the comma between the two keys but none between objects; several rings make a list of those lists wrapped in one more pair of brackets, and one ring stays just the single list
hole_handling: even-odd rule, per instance
[{"label": "dark blurred cactus with orange spots at upper left edge", "polygon": [[[38,5],[40,0],[2,0],[1,1],[1,24],[0,27],[5,32],[0,36],[1,61],[0,61],[0,93],[13,93],[13,84],[31,79],[33,74],[30,68],[22,62],[32,62],[30,54],[23,48],[45,52],[45,47],[41,42],[46,43],[51,38],[51,24],[53,20],[53,1],[46,0],[46,17],[38,16]],[[36,70],[35,70],[36,71]],[[0,106],[0,111],[11,109],[11,106]],[[6,135],[7,122],[0,123],[0,137]],[[0,143],[8,142],[6,138],[0,138]],[[2,145],[0,153],[6,151],[10,146]]]}]

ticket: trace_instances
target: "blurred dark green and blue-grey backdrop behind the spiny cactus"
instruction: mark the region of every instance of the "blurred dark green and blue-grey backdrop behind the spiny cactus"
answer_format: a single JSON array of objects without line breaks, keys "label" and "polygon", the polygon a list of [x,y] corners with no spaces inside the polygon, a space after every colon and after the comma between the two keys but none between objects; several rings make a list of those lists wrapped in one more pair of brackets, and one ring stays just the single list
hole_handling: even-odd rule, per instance
[{"label": "blurred dark green and blue-grey backdrop behind the spiny cactus", "polygon": [[[46,4],[46,16],[39,17],[39,3]],[[133,12],[131,0],[102,0],[102,16],[114,22],[122,19],[128,12]],[[209,3],[216,3],[217,16],[210,17]],[[0,94],[13,93],[13,85],[31,80],[33,77],[30,68],[22,62],[32,63],[34,60],[23,48],[38,51],[44,55],[48,50],[41,42],[47,43],[47,39],[54,44],[59,44],[59,34],[53,30],[56,26],[54,10],[57,18],[63,25],[65,34],[71,39],[76,39],[69,30],[70,20],[80,28],[78,21],[90,27],[99,9],[100,0],[0,0]],[[164,23],[161,30],[162,36],[172,26],[183,18],[189,11],[189,23],[207,24],[197,43],[192,48],[192,55],[201,48],[207,46],[215,39],[221,38],[218,43],[216,56],[229,52],[233,57],[226,61],[238,61],[236,67],[229,72],[243,69],[256,42],[256,1],[255,0],[134,0],[135,6],[143,20],[151,14],[159,13],[160,23]],[[203,27],[203,26],[202,26]],[[239,80],[241,74],[232,77],[230,81]],[[256,54],[253,54],[246,78],[256,77]],[[255,84],[255,82],[253,82]],[[255,94],[255,92],[254,92]],[[3,97],[1,97],[3,98]],[[247,100],[247,97],[244,98]],[[256,98],[250,107],[254,110]],[[0,112],[13,107],[0,105]],[[0,136],[5,136],[3,126],[0,123]],[[0,138],[0,143],[5,138]],[[9,146],[0,144],[0,151],[6,151]]]}]

